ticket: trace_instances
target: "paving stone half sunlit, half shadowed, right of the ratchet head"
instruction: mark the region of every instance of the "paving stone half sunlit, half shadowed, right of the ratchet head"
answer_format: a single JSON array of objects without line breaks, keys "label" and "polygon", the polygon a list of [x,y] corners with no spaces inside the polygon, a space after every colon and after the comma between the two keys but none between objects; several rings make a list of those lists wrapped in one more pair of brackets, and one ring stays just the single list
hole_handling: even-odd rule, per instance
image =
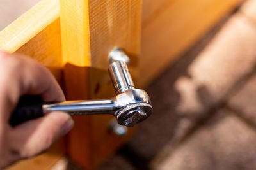
[{"label": "paving stone half sunlit, half shadowed, right of the ratchet head", "polygon": [[[153,115],[138,125],[129,143],[136,154],[150,160],[167,143],[179,142],[256,62],[256,29],[243,15],[234,15],[211,43],[170,67],[147,92]],[[193,53],[194,52],[194,53]]]}]

